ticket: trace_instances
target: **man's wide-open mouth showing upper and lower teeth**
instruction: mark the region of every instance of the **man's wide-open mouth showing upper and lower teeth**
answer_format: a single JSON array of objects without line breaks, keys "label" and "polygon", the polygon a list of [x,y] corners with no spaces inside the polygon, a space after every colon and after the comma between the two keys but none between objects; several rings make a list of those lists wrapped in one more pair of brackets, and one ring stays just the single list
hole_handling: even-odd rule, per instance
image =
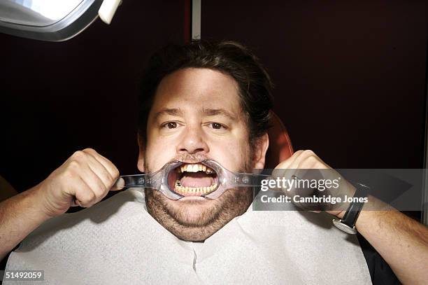
[{"label": "man's wide-open mouth showing upper and lower teeth", "polygon": [[168,176],[169,189],[182,196],[204,196],[217,189],[217,173],[203,163],[183,163]]}]

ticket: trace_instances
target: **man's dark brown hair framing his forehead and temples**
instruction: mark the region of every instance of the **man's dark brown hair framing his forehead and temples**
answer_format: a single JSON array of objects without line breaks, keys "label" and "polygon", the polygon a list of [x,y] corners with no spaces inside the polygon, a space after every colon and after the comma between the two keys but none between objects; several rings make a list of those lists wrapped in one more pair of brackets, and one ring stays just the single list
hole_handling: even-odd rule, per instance
[{"label": "man's dark brown hair framing his forehead and temples", "polygon": [[220,71],[238,83],[242,111],[247,116],[250,144],[269,129],[273,107],[272,83],[262,64],[252,52],[234,41],[192,41],[169,45],[150,57],[141,83],[138,129],[146,140],[148,114],[162,78],[188,67]]}]

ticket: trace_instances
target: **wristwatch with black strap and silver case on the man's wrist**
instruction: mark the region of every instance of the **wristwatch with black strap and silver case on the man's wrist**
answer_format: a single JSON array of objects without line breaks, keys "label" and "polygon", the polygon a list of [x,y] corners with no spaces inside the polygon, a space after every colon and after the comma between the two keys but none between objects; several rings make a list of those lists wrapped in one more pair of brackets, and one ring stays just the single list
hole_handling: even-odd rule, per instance
[{"label": "wristwatch with black strap and silver case on the man's wrist", "polygon": [[[364,198],[369,194],[370,187],[361,183],[354,183],[355,186],[355,194],[354,198]],[[357,199],[352,199],[357,200]],[[358,199],[361,200],[361,199]],[[334,218],[333,225],[336,226],[339,230],[343,230],[343,232],[347,232],[348,234],[355,235],[357,233],[357,229],[355,228],[355,223],[357,222],[357,218],[359,213],[361,212],[362,207],[364,206],[364,202],[351,202],[348,210],[346,210],[343,218]]]}]

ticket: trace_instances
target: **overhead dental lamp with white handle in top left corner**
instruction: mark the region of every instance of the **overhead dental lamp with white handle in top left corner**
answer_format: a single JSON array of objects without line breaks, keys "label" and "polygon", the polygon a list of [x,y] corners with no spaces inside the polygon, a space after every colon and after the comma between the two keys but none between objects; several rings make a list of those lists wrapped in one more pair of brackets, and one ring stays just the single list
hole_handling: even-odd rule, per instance
[{"label": "overhead dental lamp with white handle in top left corner", "polygon": [[110,24],[121,0],[0,0],[0,32],[66,41],[101,18]]}]

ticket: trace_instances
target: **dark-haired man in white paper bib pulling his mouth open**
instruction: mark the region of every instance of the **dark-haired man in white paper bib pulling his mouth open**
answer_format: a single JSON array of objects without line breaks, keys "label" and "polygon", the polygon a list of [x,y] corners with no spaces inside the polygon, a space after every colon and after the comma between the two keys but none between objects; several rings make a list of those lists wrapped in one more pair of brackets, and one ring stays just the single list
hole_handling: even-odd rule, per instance
[{"label": "dark-haired man in white paper bib pulling his mouth open", "polygon": [[[198,41],[160,50],[143,79],[141,102],[138,169],[150,173],[183,162],[179,184],[170,186],[185,197],[124,191],[92,207],[123,180],[115,184],[119,171],[96,151],[78,151],[38,186],[0,204],[1,257],[32,232],[7,269],[38,266],[46,281],[70,284],[370,282],[359,246],[306,221],[316,214],[250,211],[247,188],[201,197],[215,182],[206,170],[192,170],[203,170],[205,159],[233,172],[264,167],[271,81],[247,48]],[[276,168],[329,166],[312,151],[297,151]],[[371,196],[366,204],[382,205]],[[90,209],[59,216],[73,205]],[[327,212],[342,218],[345,211]],[[428,279],[423,225],[399,211],[362,211],[356,228],[401,282]]]}]

